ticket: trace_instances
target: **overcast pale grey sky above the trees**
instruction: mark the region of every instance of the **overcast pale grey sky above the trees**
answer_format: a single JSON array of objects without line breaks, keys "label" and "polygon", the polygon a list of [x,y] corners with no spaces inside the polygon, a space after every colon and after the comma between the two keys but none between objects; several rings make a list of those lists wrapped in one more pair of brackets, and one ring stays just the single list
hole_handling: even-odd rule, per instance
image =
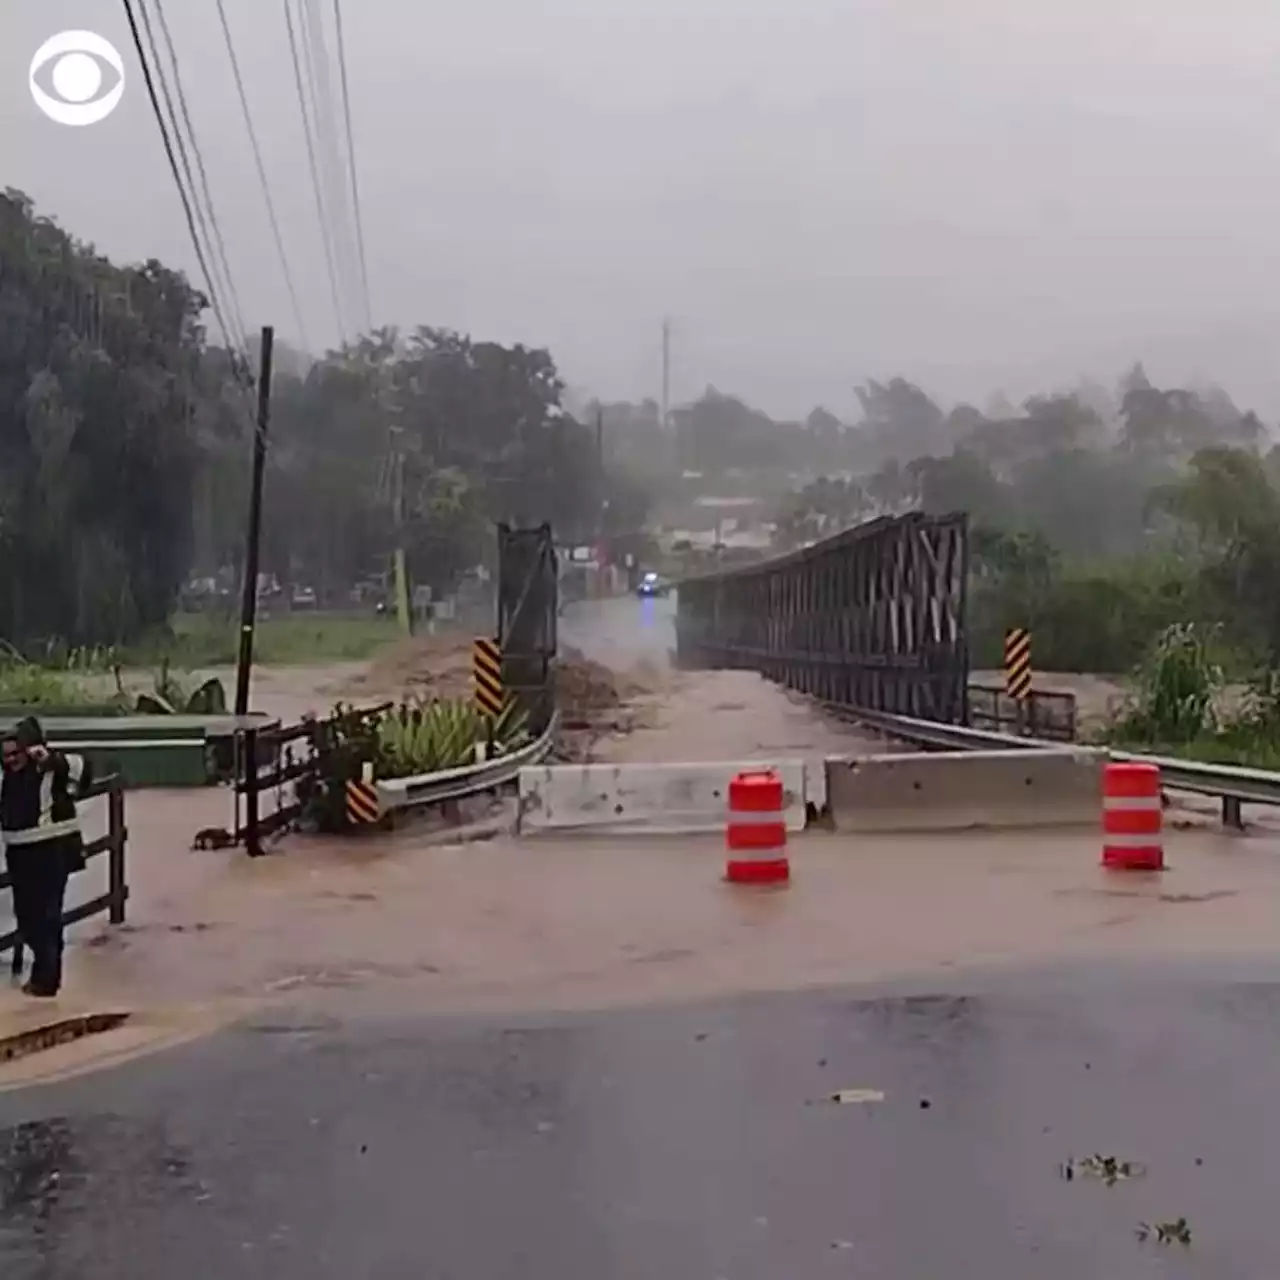
[{"label": "overcast pale grey sky above the trees", "polygon": [[[225,0],[312,343],[325,283],[280,0]],[[330,8],[330,0],[321,0]],[[195,268],[118,0],[0,0],[0,182]],[[212,0],[165,0],[250,326],[294,329]],[[1280,412],[1275,0],[346,0],[375,319],[548,346],[566,378],[854,412],[1222,381]],[[125,54],[47,122],[37,45]]]}]

